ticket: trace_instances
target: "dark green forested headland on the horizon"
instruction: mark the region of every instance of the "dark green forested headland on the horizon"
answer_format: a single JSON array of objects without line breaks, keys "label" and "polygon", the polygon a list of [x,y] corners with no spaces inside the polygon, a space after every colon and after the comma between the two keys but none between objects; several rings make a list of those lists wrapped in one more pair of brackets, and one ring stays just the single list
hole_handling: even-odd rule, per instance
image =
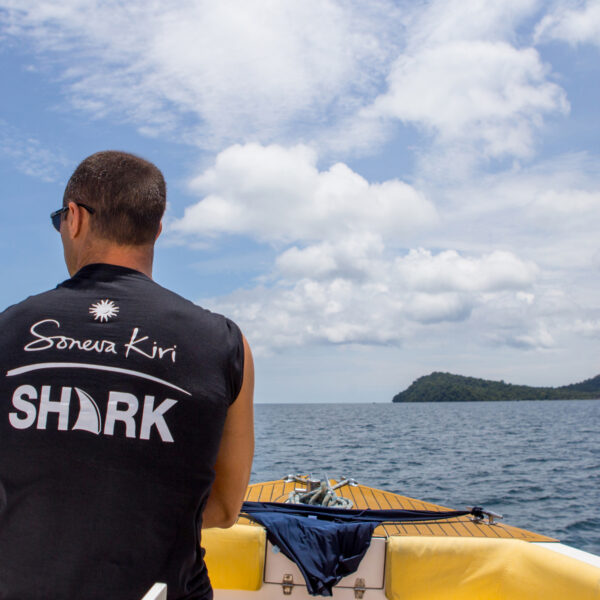
[{"label": "dark green forested headland on the horizon", "polygon": [[600,398],[600,375],[562,387],[531,387],[504,381],[434,372],[419,377],[392,402],[494,402],[498,400],[584,400]]}]

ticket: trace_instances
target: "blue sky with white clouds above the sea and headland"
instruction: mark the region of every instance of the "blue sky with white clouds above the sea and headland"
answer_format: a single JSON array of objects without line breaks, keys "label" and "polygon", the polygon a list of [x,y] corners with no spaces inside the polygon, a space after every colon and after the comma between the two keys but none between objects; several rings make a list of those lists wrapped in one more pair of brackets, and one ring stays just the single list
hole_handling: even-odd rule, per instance
[{"label": "blue sky with white clouds above the sea and headland", "polygon": [[68,277],[49,213],[125,150],[256,402],[600,373],[599,0],[0,0],[0,65],[1,308]]}]

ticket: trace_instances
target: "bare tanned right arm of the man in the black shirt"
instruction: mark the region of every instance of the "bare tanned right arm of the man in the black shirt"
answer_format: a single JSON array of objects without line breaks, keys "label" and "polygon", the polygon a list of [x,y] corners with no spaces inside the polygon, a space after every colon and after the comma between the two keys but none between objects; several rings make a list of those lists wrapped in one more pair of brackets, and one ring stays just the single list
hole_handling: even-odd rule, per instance
[{"label": "bare tanned right arm of the man in the black shirt", "polygon": [[254,362],[244,338],[244,378],[235,402],[229,407],[215,480],[202,514],[202,528],[231,527],[246,494],[254,455]]}]

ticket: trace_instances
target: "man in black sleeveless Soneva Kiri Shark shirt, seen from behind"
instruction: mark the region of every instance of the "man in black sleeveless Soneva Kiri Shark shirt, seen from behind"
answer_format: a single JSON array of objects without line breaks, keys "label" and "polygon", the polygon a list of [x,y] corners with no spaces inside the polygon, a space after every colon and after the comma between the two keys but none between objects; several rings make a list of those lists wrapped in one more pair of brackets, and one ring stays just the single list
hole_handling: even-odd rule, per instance
[{"label": "man in black sleeveless Soneva Kiri Shark shirt, seen from behind", "polygon": [[52,214],[71,279],[0,315],[0,598],[212,591],[201,527],[229,527],[253,453],[238,327],[151,279],[166,187],[85,159]]}]

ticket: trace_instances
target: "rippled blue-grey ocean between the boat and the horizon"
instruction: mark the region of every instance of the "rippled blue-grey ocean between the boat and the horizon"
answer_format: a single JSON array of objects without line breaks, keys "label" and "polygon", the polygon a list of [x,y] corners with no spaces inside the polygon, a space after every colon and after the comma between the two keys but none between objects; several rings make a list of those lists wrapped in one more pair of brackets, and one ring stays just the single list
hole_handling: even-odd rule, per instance
[{"label": "rippled blue-grey ocean between the boat and the horizon", "polygon": [[600,555],[600,400],[258,404],[255,427],[251,482],[354,477]]}]

